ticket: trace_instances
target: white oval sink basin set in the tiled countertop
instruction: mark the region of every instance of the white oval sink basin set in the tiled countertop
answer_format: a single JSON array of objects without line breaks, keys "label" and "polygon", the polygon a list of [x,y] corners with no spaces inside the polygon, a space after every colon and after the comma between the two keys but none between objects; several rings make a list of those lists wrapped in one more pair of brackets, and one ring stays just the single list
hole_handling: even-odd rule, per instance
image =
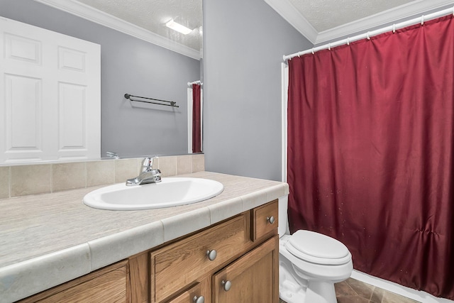
[{"label": "white oval sink basin set in the tiled countertop", "polygon": [[223,184],[214,180],[164,177],[158,183],[121,183],[96,189],[84,197],[84,204],[110,210],[160,209],[201,202],[221,194],[223,189]]}]

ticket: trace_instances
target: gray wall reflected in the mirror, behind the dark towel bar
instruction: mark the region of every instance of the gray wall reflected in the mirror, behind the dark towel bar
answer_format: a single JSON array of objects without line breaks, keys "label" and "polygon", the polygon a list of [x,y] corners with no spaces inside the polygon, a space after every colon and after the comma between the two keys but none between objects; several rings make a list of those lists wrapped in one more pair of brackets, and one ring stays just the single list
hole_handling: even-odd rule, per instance
[{"label": "gray wall reflected in the mirror, behind the dark towel bar", "polygon": [[[101,45],[101,153],[187,153],[187,82],[199,60],[52,9],[32,0],[0,0],[0,16]],[[179,109],[132,108],[125,93],[177,101]]]}]

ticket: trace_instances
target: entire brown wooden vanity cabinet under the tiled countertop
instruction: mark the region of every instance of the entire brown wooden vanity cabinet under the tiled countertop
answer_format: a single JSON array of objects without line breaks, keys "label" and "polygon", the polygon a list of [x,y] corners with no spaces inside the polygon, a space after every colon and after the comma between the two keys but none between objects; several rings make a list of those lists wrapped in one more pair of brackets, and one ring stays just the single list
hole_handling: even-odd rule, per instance
[{"label": "entire brown wooden vanity cabinet under the tiled countertop", "polygon": [[277,200],[23,299],[279,302]]}]

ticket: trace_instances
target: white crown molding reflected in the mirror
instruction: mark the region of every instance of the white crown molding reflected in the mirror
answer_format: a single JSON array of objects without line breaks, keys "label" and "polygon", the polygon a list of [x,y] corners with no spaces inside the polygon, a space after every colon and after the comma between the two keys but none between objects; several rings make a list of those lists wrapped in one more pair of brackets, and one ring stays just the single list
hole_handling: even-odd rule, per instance
[{"label": "white crown molding reflected in the mirror", "polygon": [[74,16],[84,18],[88,21],[98,23],[101,26],[112,28],[116,31],[120,31],[121,33],[126,33],[127,35],[132,35],[135,38],[139,38],[155,45],[159,45],[162,48],[167,48],[168,50],[172,50],[187,57],[192,57],[196,60],[200,60],[201,58],[201,53],[187,47],[186,45],[176,43],[175,41],[162,37],[161,35],[147,31],[144,28],[135,26],[132,23],[123,21],[120,18],[116,18],[115,16],[111,16],[108,13],[94,9],[92,6],[87,6],[86,4],[82,4],[74,0],[35,1],[48,6],[52,6],[55,9],[60,9],[60,11],[71,13]]}]

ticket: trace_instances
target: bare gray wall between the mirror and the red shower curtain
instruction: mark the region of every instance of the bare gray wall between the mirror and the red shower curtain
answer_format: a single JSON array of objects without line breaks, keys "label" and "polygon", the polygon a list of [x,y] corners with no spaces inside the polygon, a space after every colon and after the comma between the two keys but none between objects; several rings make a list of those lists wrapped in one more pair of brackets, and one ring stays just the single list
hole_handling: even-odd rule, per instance
[{"label": "bare gray wall between the mirror and the red shower curtain", "polygon": [[204,1],[206,170],[280,180],[282,55],[312,47],[263,0]]}]

